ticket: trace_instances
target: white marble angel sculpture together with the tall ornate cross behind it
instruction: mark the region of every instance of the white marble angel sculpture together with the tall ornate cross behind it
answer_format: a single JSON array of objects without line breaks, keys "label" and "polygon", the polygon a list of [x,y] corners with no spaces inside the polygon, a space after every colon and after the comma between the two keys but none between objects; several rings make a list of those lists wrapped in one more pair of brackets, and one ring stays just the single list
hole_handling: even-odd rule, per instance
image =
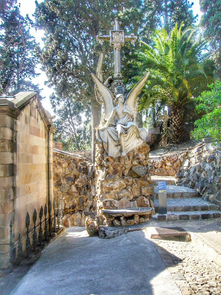
[{"label": "white marble angel sculpture together with the tall ornate cross behind it", "polygon": [[[112,91],[116,94],[115,101],[113,93],[107,87],[108,80],[112,77],[109,77],[103,83],[103,54],[99,58],[96,75],[91,73],[91,76],[95,82],[96,99],[102,104],[101,121],[97,128],[96,142],[103,142],[103,147],[109,156],[118,157],[119,155],[125,156],[133,148],[141,145],[148,134],[146,129],[137,127],[136,117],[138,113],[138,95],[141,93],[149,73],[134,86],[124,102],[125,97],[122,93],[125,93],[125,86],[121,80],[120,50],[125,41],[134,44],[137,36],[134,36],[134,33],[125,36],[124,31],[119,29],[121,22],[119,22],[118,18],[115,18],[111,24],[114,26],[114,30],[110,30],[110,35],[99,33],[97,41],[101,44],[103,41],[108,41],[114,49],[115,80],[112,84]],[[115,107],[114,103],[116,104]]]}]

